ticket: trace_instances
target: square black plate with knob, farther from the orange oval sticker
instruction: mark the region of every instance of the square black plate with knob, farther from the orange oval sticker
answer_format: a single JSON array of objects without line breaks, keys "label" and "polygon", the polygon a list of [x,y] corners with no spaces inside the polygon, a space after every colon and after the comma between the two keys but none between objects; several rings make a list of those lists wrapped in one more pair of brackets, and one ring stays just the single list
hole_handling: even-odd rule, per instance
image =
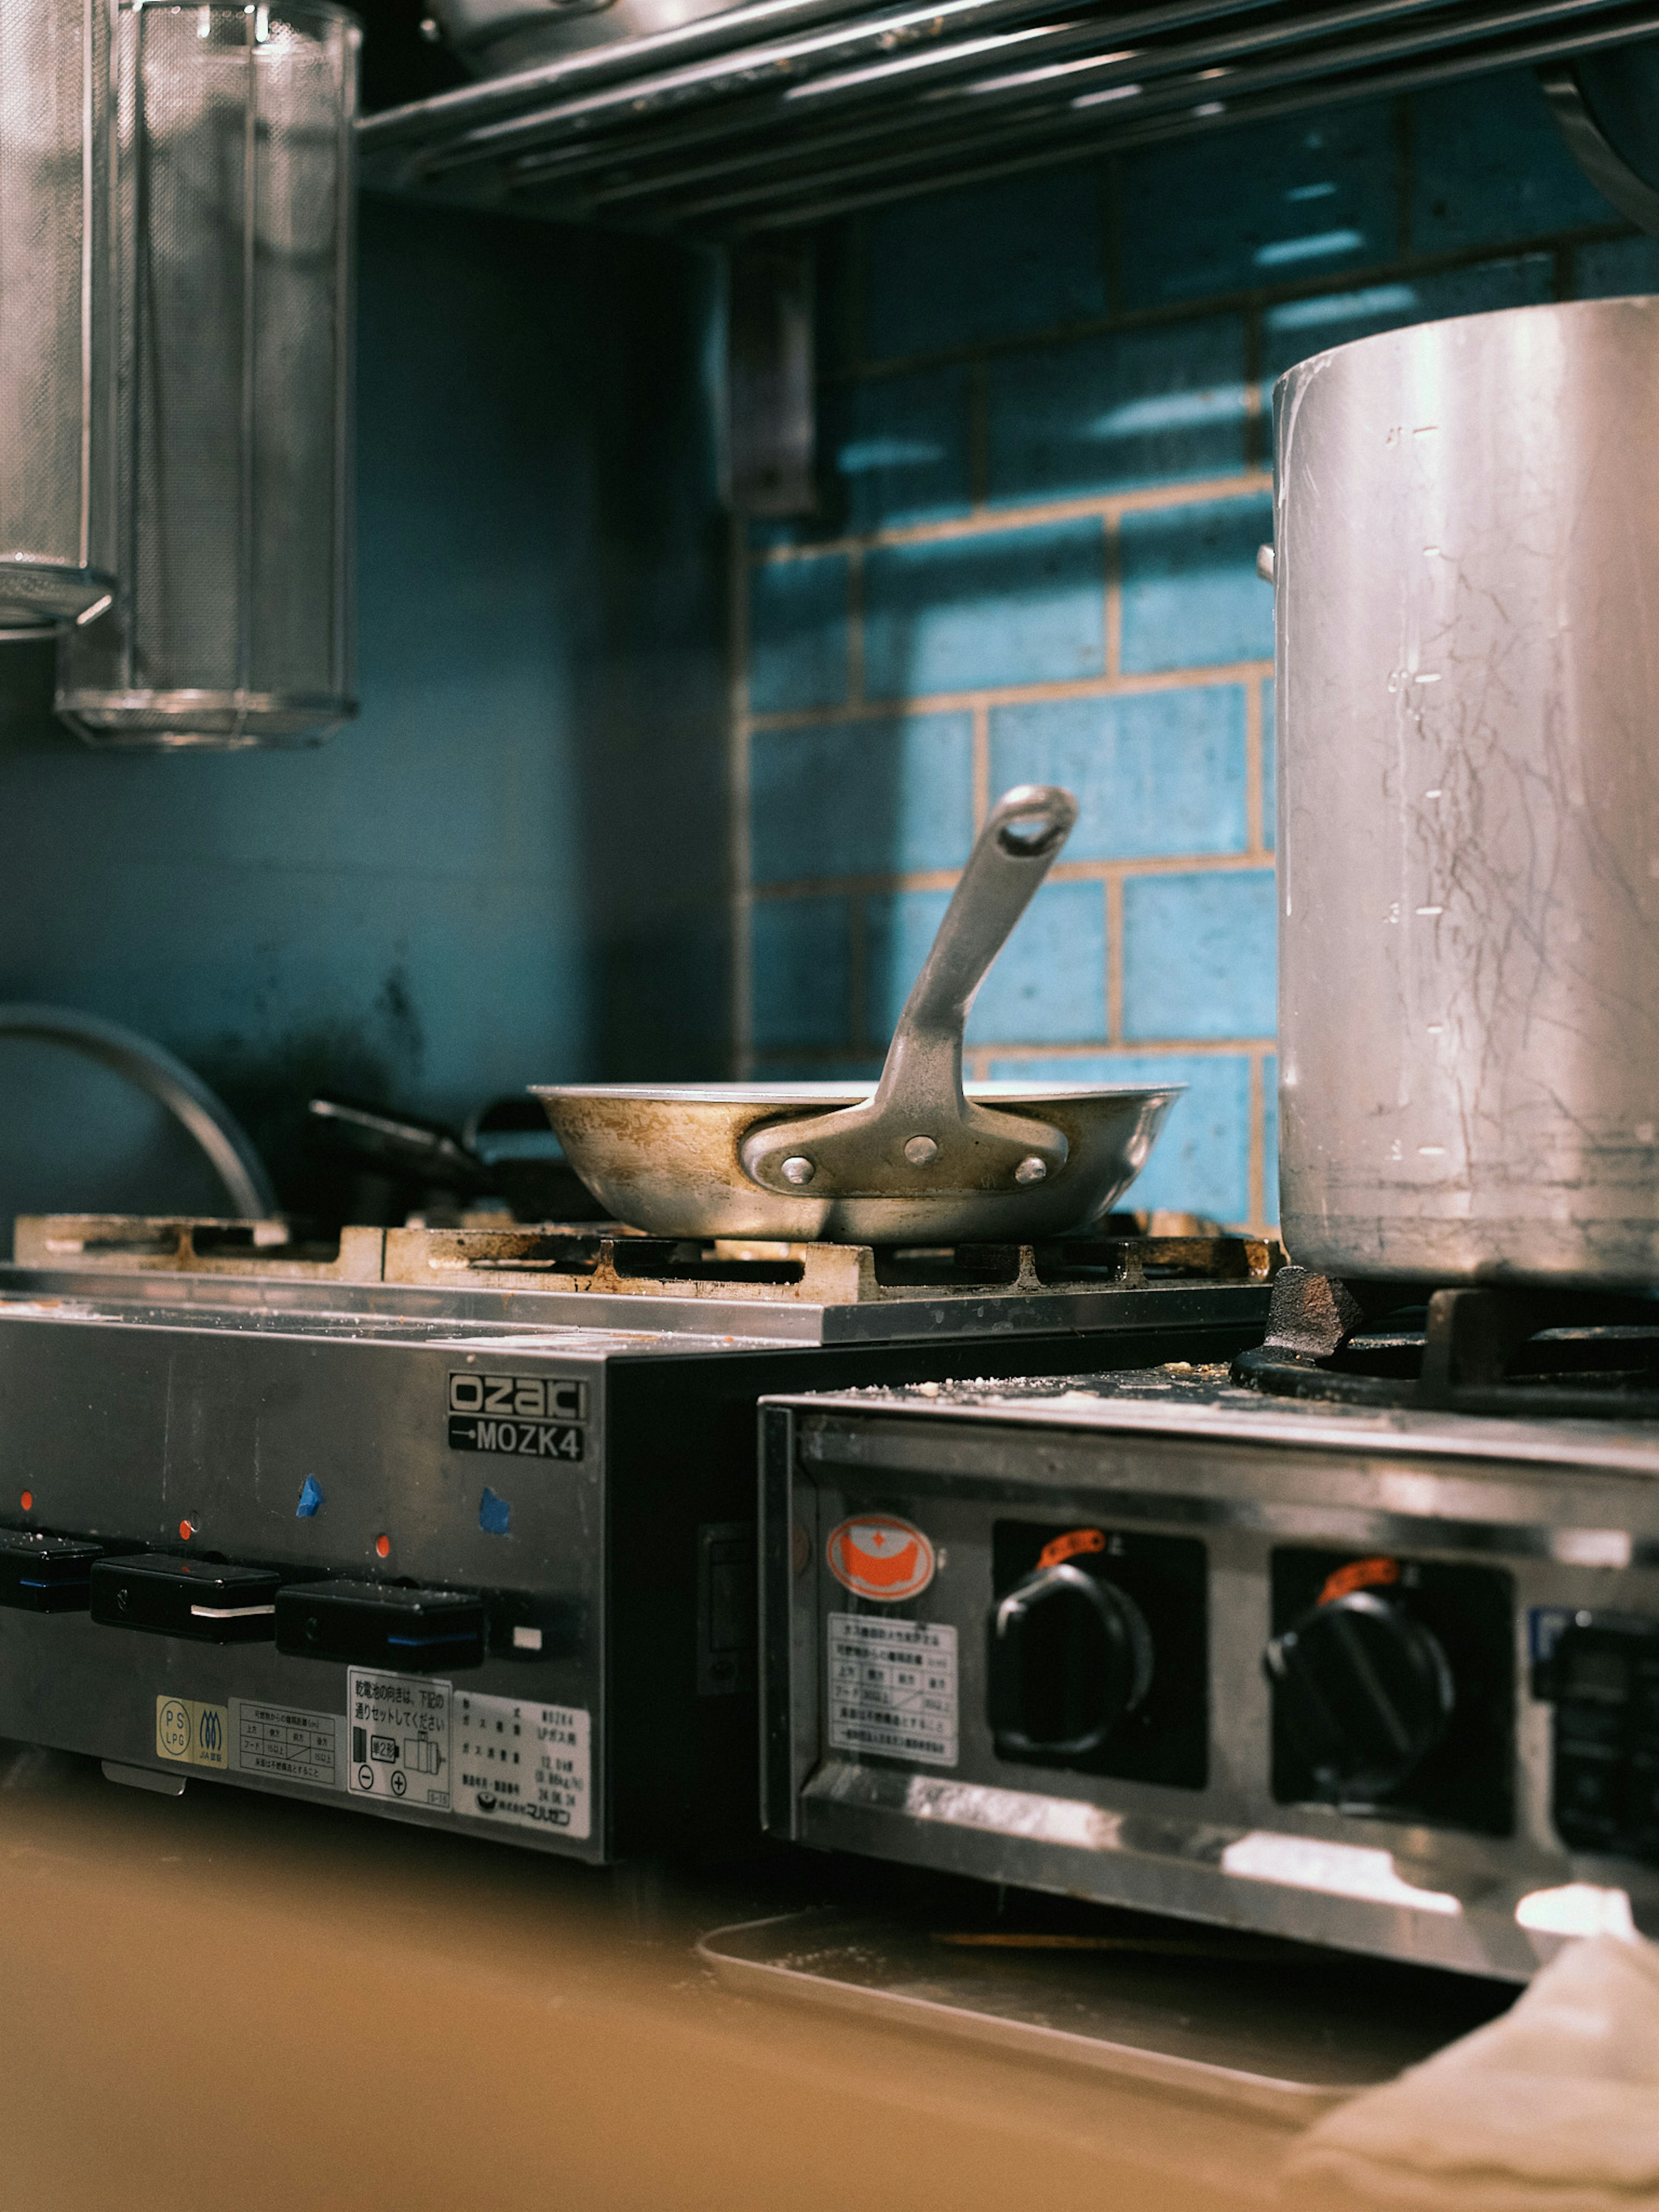
[{"label": "square black plate with knob, farther from the orange oval sticker", "polygon": [[1276,1551],[1272,1787],[1513,1829],[1513,1593],[1500,1568]]}]

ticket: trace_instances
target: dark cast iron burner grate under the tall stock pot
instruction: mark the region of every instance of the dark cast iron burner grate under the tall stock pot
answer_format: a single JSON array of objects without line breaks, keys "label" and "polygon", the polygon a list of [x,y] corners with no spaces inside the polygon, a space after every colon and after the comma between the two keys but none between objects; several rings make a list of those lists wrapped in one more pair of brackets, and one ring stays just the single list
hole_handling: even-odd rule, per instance
[{"label": "dark cast iron burner grate under the tall stock pot", "polygon": [[1659,1420],[1659,1301],[1593,1290],[1274,1279],[1267,1340],[1234,1383],[1279,1398]]}]

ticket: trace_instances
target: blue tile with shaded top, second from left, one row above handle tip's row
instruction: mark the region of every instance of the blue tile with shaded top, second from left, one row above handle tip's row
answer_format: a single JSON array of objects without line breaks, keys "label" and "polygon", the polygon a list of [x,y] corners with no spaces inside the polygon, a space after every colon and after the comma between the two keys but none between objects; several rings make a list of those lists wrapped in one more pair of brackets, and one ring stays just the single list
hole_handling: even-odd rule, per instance
[{"label": "blue tile with shaded top, second from left, one row above handle tip's row", "polygon": [[1095,520],[929,538],[865,557],[872,699],[1106,670],[1106,538]]}]

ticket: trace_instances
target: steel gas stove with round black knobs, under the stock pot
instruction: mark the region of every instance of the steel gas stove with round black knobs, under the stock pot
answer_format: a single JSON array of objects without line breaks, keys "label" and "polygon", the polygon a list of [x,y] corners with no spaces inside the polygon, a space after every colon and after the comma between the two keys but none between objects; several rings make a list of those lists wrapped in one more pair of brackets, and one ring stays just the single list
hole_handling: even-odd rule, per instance
[{"label": "steel gas stove with round black knobs, under the stock pot", "polygon": [[1234,1363],[763,1407],[774,1834],[1509,1980],[1659,1933],[1639,1303],[1298,1274]]}]

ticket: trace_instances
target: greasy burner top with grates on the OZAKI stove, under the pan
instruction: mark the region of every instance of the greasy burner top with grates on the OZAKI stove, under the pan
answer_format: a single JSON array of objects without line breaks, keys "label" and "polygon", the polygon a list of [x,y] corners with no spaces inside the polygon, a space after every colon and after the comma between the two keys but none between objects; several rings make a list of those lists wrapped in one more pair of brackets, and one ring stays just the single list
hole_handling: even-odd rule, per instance
[{"label": "greasy burner top with grates on the OZAKI stove, under the pan", "polygon": [[[0,1294],[246,1314],[403,1316],[750,1343],[1265,1323],[1276,1250],[1250,1237],[898,1248],[635,1237],[615,1225],[347,1228],[44,1214]],[[195,1323],[192,1323],[195,1325]]]}]

